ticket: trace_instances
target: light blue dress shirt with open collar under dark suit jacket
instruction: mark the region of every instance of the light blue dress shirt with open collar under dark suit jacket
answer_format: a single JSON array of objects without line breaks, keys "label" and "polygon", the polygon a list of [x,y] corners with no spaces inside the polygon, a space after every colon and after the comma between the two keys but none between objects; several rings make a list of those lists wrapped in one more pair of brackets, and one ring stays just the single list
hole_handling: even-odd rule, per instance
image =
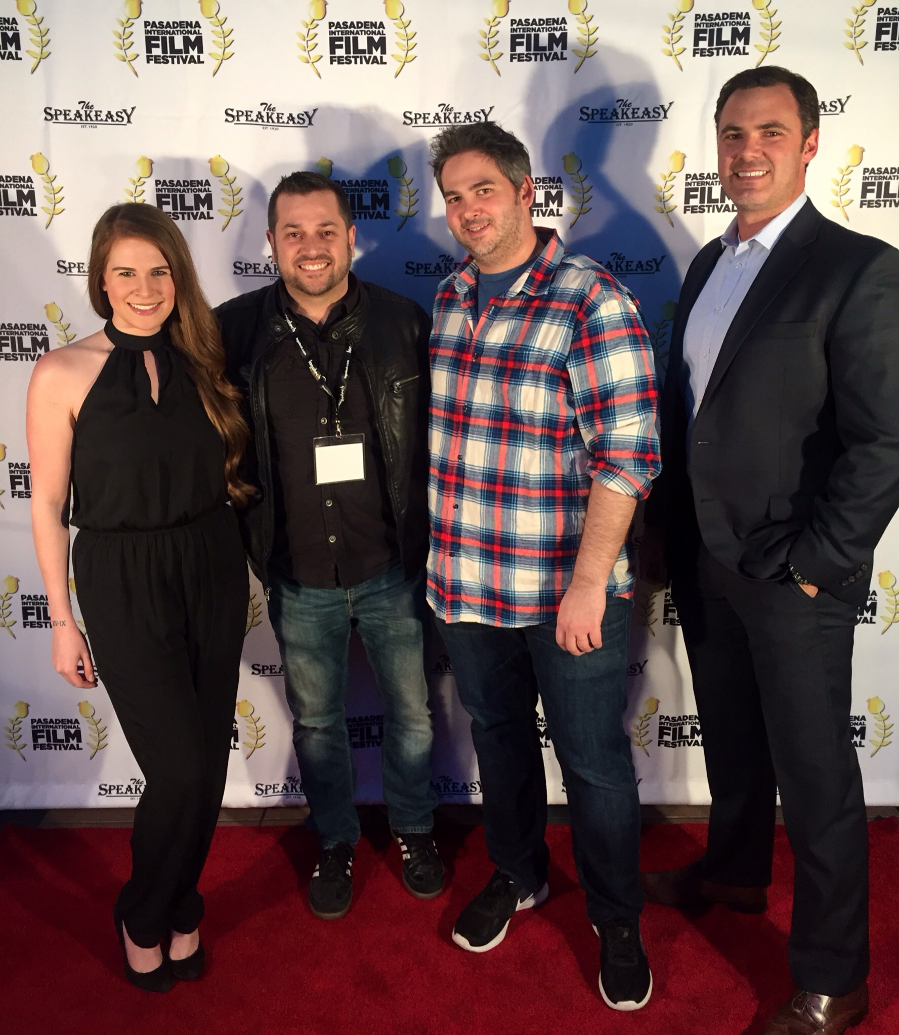
[{"label": "light blue dress shirt with open collar under dark suit jacket", "polygon": [[689,409],[688,451],[693,421],[730,323],[771,249],[807,200],[805,193],[801,194],[789,208],[785,208],[748,240],[740,240],[736,217],[721,235],[724,250],[699,292],[684,330],[684,362],[688,374],[684,386]]}]

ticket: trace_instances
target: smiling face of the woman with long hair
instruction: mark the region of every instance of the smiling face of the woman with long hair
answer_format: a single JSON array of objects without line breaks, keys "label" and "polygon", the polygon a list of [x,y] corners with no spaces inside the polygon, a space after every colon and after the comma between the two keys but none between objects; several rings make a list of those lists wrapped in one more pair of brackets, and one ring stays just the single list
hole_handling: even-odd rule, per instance
[{"label": "smiling face of the woman with long hair", "polygon": [[113,325],[126,334],[155,334],[175,308],[169,263],[143,237],[113,242],[101,286],[113,309]]}]

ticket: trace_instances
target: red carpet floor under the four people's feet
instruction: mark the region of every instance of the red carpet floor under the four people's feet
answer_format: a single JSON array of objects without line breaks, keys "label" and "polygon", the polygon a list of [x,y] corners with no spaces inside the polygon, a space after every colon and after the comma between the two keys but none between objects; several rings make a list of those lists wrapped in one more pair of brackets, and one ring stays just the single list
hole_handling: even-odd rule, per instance
[{"label": "red carpet floor under the four people's feet", "polygon": [[[209,972],[167,996],[128,985],[111,919],[128,867],[127,830],[0,831],[0,1031],[8,1035],[331,1035],[580,1033],[729,1035],[758,1031],[789,994],[786,933],[792,859],[778,829],[765,916],[723,907],[688,920],[648,906],[643,940],[655,990],[638,1013],[612,1013],[597,986],[598,942],[583,913],[567,827],[550,827],[550,897],[513,919],[506,941],[474,955],[450,941],[458,911],[489,869],[480,828],[444,826],[444,894],[413,899],[386,825],[366,831],[356,899],[324,922],[302,890],[314,841],[302,828],[224,827],[204,874]],[[655,826],[646,868],[700,852],[705,827]],[[899,821],[870,825],[871,1018],[899,1032]],[[298,876],[299,875],[299,876]]]}]

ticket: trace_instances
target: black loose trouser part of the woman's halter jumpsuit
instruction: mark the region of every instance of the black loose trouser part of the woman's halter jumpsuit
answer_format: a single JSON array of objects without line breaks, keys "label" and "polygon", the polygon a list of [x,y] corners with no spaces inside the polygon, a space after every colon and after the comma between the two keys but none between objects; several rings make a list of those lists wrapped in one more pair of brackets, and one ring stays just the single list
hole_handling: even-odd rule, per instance
[{"label": "black loose trouser part of the woman's halter jumpsuit", "polygon": [[79,604],[146,780],[118,910],[136,945],[203,917],[197,883],[228,773],[248,578],[230,506],[153,532],[79,532]]}]

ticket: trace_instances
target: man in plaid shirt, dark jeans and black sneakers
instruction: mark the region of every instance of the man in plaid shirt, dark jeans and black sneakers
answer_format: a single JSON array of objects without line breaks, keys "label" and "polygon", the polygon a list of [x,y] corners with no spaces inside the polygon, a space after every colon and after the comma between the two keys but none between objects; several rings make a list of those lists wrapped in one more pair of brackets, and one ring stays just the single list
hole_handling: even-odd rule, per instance
[{"label": "man in plaid shirt, dark jeans and black sneakers", "polygon": [[472,716],[497,867],[453,941],[485,952],[548,894],[539,694],[600,936],[600,990],[634,1010],[652,975],[622,714],[627,536],[659,471],[652,349],[627,289],[535,231],[515,137],[493,122],[448,127],[431,166],[469,256],[433,309],[428,599]]}]

